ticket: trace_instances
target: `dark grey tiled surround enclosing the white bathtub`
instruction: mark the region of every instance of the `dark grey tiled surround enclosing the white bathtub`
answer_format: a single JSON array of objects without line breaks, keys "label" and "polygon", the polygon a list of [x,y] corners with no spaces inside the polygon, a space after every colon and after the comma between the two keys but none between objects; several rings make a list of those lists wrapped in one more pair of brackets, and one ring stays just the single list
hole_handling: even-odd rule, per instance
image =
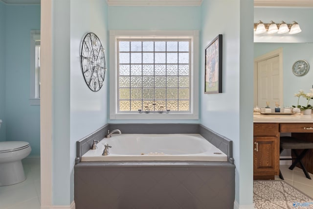
[{"label": "dark grey tiled surround enclosing the white bathtub", "polygon": [[[91,146],[92,140],[96,139],[95,137],[85,138],[77,142],[78,158],[74,168],[76,209],[233,208],[235,165],[232,158],[231,140],[199,124],[109,124],[102,129],[117,128],[122,133],[200,133],[227,155],[228,162],[80,162],[81,156],[85,154],[80,147],[86,146],[90,140]],[[148,130],[152,133],[147,133]]]}]

